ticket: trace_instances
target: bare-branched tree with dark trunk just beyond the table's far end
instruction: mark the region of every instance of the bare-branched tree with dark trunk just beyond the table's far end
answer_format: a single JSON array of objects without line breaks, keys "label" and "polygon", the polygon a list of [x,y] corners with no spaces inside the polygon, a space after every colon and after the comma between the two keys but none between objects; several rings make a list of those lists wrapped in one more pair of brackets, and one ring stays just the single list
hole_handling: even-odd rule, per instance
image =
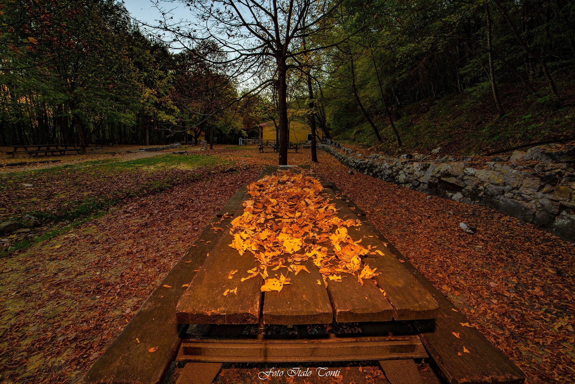
[{"label": "bare-branched tree with dark trunk just beyond the table's far end", "polygon": [[328,34],[333,28],[331,18],[345,10],[341,6],[342,0],[183,2],[193,14],[193,22],[173,21],[170,12],[162,8],[161,0],[156,1],[164,15],[161,29],[171,33],[172,44],[185,49],[193,41],[216,41],[226,58],[212,60],[212,64],[227,68],[230,76],[240,80],[244,89],[240,97],[274,85],[278,98],[279,164],[286,165],[289,140],[287,72],[301,67],[300,57],[335,47],[349,37],[315,44],[313,48],[304,49],[301,45],[302,39]]}]

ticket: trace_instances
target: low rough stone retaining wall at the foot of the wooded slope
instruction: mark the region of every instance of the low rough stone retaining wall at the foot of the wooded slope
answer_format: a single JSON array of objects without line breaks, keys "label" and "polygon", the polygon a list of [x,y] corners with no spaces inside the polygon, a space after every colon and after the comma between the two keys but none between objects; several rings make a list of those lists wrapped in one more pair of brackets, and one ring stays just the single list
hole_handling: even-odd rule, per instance
[{"label": "low rough stone retaining wall at the foot of the wooded slope", "polygon": [[544,145],[490,161],[417,153],[363,156],[332,140],[318,144],[354,171],[420,192],[490,206],[575,241],[575,146]]}]

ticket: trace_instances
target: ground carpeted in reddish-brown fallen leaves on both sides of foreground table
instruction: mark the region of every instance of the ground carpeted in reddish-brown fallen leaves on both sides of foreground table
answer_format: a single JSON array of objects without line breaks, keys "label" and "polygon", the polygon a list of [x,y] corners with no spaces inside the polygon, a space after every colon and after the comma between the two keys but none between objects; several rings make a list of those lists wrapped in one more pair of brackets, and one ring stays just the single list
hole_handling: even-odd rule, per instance
[{"label": "ground carpeted in reddish-brown fallen leaves on both sides of foreground table", "polygon": [[[119,171],[170,174],[175,169],[194,176],[163,191],[126,195],[111,210],[99,211],[104,216],[0,259],[0,381],[79,379],[217,210],[243,183],[254,181],[263,164],[277,163],[276,153],[253,147],[215,148],[209,156],[197,153],[198,161],[207,162],[198,167],[148,164]],[[185,158],[174,162],[185,163]],[[290,164],[309,164],[309,150],[290,151],[289,158]],[[227,163],[210,166],[213,160]],[[490,208],[350,175],[323,152],[319,160],[315,171],[365,210],[470,323],[522,368],[529,383],[573,381],[575,245]],[[237,171],[224,172],[232,163]],[[61,168],[53,176],[66,172]],[[76,173],[81,169],[70,172],[83,175]],[[81,188],[99,198],[113,185],[99,181],[93,189]],[[135,185],[140,185],[137,179]],[[20,193],[2,191],[10,199]],[[477,232],[463,232],[460,222],[476,226]],[[241,364],[224,368],[217,379],[221,383],[250,382],[251,370],[259,371]],[[348,377],[362,378],[357,382],[385,382],[377,366],[348,371]]]}]

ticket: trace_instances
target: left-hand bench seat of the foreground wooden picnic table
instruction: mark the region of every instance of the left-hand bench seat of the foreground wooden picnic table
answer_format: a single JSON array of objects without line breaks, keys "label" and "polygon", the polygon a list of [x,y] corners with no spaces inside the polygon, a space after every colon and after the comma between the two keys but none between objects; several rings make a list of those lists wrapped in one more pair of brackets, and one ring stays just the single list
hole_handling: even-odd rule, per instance
[{"label": "left-hand bench seat of the foreground wooden picnic table", "polygon": [[[231,218],[214,218],[226,231]],[[185,291],[182,285],[194,277],[206,253],[222,232],[206,226],[182,259],[168,272],[160,286],[148,297],[132,321],[116,337],[104,354],[82,378],[84,383],[160,383],[173,361],[185,327],[178,325],[175,308]],[[204,240],[204,241],[201,241]],[[211,243],[209,243],[211,241]],[[194,247],[194,245],[196,245]],[[189,262],[189,263],[186,263]],[[171,288],[163,287],[164,285]],[[137,343],[136,338],[140,341]],[[154,353],[149,348],[158,347]]]}]

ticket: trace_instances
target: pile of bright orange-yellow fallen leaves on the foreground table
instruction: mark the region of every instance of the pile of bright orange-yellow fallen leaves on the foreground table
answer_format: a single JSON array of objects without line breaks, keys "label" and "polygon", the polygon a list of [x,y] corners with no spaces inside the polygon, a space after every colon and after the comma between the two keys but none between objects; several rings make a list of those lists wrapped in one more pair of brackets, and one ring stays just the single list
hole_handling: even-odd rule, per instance
[{"label": "pile of bright orange-yellow fallen leaves on the foreground table", "polygon": [[[242,282],[260,275],[265,280],[262,291],[281,291],[290,284],[290,271],[296,275],[309,272],[304,264],[310,258],[325,285],[328,278],[341,281],[342,272],[355,275],[362,285],[362,279],[378,275],[377,268],[372,270],[367,264],[361,268],[361,256],[372,247],[363,247],[361,239],[354,241],[347,232],[361,222],[339,218],[335,203],[322,190],[319,180],[304,170],[300,174],[279,171],[248,186],[252,198],[244,201],[243,214],[232,220],[229,245],[240,256],[254,255],[259,267],[247,271]],[[270,271],[279,268],[287,268],[285,275],[280,272],[279,277],[270,278]]]}]

